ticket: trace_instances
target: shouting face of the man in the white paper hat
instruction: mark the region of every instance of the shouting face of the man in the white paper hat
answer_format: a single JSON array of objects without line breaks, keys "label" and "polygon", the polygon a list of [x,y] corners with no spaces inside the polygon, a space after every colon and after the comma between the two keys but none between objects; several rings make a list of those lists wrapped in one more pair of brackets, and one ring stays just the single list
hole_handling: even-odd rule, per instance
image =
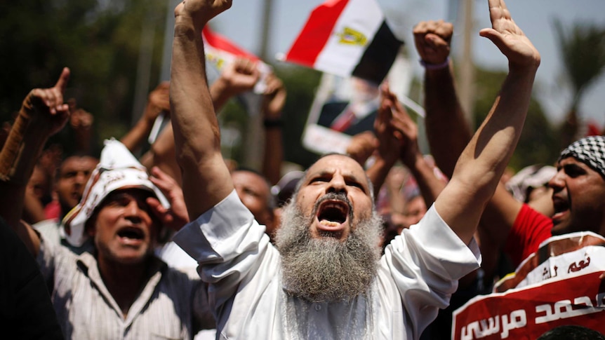
[{"label": "shouting face of the man in the white paper hat", "polygon": [[152,217],[142,189],[113,191],[103,200],[88,234],[93,237],[99,266],[141,264],[157,243],[159,222]]}]

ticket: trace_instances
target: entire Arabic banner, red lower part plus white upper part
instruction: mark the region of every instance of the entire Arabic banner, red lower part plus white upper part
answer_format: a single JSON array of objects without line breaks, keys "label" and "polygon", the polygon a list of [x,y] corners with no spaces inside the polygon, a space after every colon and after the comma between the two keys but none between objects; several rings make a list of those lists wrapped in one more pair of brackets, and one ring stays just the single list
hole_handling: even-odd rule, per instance
[{"label": "entire Arabic banner, red lower part plus white upper part", "polygon": [[562,325],[605,332],[604,244],[587,231],[545,240],[493,294],[454,311],[452,339],[536,339]]}]

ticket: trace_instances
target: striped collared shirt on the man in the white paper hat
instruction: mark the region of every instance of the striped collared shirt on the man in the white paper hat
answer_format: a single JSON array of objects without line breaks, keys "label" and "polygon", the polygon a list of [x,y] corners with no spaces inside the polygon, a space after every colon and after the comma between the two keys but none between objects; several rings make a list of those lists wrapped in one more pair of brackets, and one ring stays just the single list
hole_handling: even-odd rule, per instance
[{"label": "striped collared shirt on the man in the white paper hat", "polygon": [[100,276],[95,257],[41,244],[38,263],[66,339],[192,339],[214,328],[206,286],[154,257],[152,276],[124,314]]}]

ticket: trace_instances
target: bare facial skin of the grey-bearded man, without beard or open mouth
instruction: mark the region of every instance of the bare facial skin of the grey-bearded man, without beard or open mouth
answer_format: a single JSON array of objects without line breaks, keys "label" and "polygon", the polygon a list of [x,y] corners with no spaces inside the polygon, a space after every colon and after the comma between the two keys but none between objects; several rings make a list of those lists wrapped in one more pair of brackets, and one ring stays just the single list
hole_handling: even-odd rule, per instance
[{"label": "bare facial skin of the grey-bearded man, without beard or open mouth", "polygon": [[[316,203],[327,193],[344,193],[353,209],[353,221],[350,220],[349,208],[342,201],[328,200],[319,205]],[[352,158],[343,155],[330,155],[314,163],[296,196],[296,204],[312,221],[310,233],[313,238],[332,236],[345,240],[359,219],[371,217],[373,202],[370,196],[368,179],[361,165]],[[318,215],[326,205],[338,205],[345,210],[343,222],[321,222]]]}]

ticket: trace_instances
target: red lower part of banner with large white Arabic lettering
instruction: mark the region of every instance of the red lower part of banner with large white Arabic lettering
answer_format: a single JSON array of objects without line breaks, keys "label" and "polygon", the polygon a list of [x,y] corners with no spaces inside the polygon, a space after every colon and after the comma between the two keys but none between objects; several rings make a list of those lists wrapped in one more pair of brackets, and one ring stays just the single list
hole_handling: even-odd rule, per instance
[{"label": "red lower part of banner with large white Arabic lettering", "polygon": [[605,332],[600,272],[477,297],[453,315],[452,339],[536,339],[554,327]]}]

